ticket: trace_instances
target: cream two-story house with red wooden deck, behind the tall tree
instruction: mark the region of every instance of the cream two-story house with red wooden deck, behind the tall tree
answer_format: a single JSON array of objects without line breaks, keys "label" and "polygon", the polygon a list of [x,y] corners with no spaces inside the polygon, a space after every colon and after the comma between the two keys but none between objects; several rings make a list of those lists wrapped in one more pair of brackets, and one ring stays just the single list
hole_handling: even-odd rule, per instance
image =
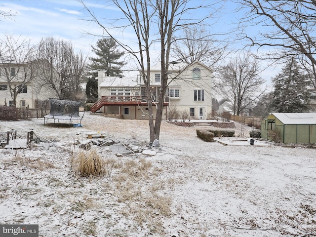
[{"label": "cream two-story house with red wooden deck, behind the tall tree", "polygon": [[[190,65],[173,63],[169,67],[169,85],[164,98],[163,118],[176,109],[186,112],[190,119],[206,119],[212,112],[212,71],[205,65],[195,62]],[[151,68],[152,94],[157,102],[160,83],[160,64]],[[116,114],[128,119],[148,119],[148,107],[144,83],[140,76],[106,77],[99,72],[99,101],[91,111],[101,110],[105,114]],[[153,102],[154,118],[156,117]]]}]

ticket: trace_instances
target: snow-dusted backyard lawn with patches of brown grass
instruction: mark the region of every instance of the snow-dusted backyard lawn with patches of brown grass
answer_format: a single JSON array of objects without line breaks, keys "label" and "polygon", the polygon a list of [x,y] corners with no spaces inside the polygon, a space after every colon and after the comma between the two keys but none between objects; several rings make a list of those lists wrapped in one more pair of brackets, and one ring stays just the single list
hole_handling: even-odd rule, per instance
[{"label": "snow-dusted backyard lawn with patches of brown grass", "polygon": [[2,137],[34,129],[41,141],[0,149],[0,224],[39,224],[41,237],[316,236],[315,149],[206,143],[197,127],[163,121],[157,155],[98,147],[107,173],[82,178],[71,166],[77,141],[96,132],[146,146],[148,121],[86,113],[82,127],[43,123],[0,121]]}]

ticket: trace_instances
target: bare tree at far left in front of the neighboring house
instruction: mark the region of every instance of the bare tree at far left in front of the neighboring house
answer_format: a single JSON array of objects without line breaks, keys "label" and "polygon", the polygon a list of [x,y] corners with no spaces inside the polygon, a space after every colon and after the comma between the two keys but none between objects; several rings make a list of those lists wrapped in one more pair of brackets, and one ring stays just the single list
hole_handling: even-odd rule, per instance
[{"label": "bare tree at far left in front of the neighboring house", "polygon": [[16,106],[17,96],[26,93],[27,84],[38,76],[39,60],[30,41],[11,35],[0,40],[0,76],[5,79],[12,99],[11,106]]}]

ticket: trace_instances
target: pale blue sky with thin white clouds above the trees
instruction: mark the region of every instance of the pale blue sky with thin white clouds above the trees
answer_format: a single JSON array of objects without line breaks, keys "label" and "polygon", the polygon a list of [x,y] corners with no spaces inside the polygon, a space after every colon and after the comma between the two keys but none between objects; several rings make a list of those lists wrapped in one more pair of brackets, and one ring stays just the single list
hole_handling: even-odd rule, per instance
[{"label": "pale blue sky with thin white clouds above the trees", "polygon": [[[192,1],[194,3],[200,0]],[[201,1],[203,2],[203,1]],[[207,1],[204,1],[207,2]],[[212,2],[210,0],[209,2]],[[121,12],[113,5],[106,4],[100,0],[85,0],[84,3],[93,10],[93,13],[100,19],[105,26],[111,23],[117,24],[109,19],[119,18]],[[77,0],[1,0],[0,7],[2,11],[11,11],[10,18],[0,21],[0,32],[22,36],[31,40],[31,43],[37,44],[42,38],[54,37],[55,39],[71,40],[76,51],[82,51],[87,56],[93,56],[91,45],[95,45],[98,39],[101,39],[103,30],[90,21],[91,17],[83,9],[81,2]],[[218,39],[230,40],[231,48],[242,47],[242,42],[234,40],[234,33],[238,30],[238,18],[242,12],[236,12],[237,6],[231,1],[227,1],[223,8],[214,12],[213,22],[210,22],[210,29],[215,34],[219,33]],[[207,12],[200,9],[190,15],[192,18],[200,17]],[[87,34],[90,33],[90,34]],[[113,32],[115,37],[128,41],[133,44],[134,35],[128,30],[117,30]],[[157,50],[158,47],[154,48]],[[237,50],[236,50],[237,51]],[[128,59],[125,59],[128,60]],[[263,65],[265,67],[265,65]],[[270,79],[278,71],[274,67],[269,67],[261,76]]]}]

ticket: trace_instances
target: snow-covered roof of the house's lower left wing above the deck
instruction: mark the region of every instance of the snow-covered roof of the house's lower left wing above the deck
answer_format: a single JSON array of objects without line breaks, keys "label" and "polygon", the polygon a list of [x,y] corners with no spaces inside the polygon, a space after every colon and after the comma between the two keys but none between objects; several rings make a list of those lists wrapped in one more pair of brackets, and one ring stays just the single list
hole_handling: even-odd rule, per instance
[{"label": "snow-covered roof of the house's lower left wing above the deck", "polygon": [[134,77],[105,77],[100,87],[134,87],[140,84],[140,79]]}]

